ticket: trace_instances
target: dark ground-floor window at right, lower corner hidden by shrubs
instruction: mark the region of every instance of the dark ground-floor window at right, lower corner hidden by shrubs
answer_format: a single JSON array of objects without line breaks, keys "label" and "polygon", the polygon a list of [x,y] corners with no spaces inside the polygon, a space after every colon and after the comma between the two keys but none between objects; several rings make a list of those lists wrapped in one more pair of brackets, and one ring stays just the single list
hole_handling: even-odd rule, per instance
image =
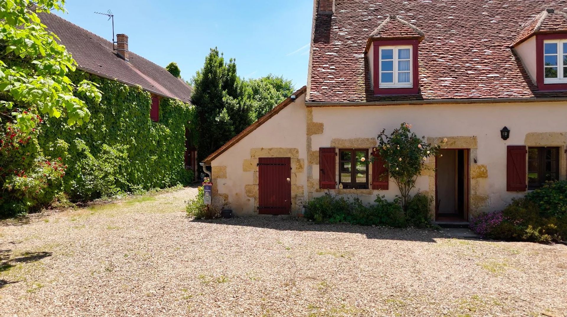
[{"label": "dark ground-floor window at right, lower corner hidden by shrubs", "polygon": [[559,147],[528,147],[528,189],[559,179]]}]

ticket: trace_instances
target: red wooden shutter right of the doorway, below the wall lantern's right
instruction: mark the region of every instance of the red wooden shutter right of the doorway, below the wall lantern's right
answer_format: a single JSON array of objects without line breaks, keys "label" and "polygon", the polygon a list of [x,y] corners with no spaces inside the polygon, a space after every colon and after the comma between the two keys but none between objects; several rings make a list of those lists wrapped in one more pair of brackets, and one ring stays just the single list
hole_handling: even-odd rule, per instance
[{"label": "red wooden shutter right of the doorway, below the wall lantern's right", "polygon": [[525,145],[509,145],[506,160],[506,191],[525,192],[526,184],[526,154]]}]

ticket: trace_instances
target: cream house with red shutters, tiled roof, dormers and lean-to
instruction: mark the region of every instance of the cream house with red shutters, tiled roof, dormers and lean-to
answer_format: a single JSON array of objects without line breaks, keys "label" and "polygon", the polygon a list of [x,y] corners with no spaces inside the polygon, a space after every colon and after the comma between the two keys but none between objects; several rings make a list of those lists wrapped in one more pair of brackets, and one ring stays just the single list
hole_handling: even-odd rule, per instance
[{"label": "cream house with red shutters, tiled roof, dormers and lean-to", "polygon": [[307,86],[204,160],[213,201],[252,215],[295,214],[325,192],[392,199],[383,167],[356,157],[401,122],[447,139],[413,192],[434,197],[436,221],[565,179],[566,12],[555,0],[315,0]]}]

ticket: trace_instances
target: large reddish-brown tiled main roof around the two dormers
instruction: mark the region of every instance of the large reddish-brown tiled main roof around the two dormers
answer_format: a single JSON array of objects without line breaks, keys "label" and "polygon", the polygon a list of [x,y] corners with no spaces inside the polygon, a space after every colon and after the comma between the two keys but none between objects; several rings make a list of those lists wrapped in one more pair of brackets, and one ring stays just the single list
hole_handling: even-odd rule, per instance
[{"label": "large reddish-brown tiled main roof around the two dormers", "polygon": [[[547,8],[565,0],[335,0],[335,14],[316,15],[309,102],[564,98],[539,92],[510,43]],[[374,96],[365,49],[390,15],[424,34],[419,44],[418,95]]]}]

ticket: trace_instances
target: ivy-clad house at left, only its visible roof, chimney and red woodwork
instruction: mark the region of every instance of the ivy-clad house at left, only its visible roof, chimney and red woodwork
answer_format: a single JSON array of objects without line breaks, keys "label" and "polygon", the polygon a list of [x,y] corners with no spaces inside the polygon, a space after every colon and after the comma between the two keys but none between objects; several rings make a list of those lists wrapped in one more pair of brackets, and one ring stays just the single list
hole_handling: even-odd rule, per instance
[{"label": "ivy-clad house at left, only its visible roof, chimney and red woodwork", "polygon": [[[58,36],[58,43],[71,53],[78,70],[150,92],[151,108],[147,115],[151,120],[159,121],[160,102],[164,98],[191,104],[191,86],[163,67],[130,52],[127,35],[117,34],[115,44],[55,14],[40,12],[38,16],[48,31]],[[196,171],[197,149],[187,128],[185,138],[185,168]]]}]

